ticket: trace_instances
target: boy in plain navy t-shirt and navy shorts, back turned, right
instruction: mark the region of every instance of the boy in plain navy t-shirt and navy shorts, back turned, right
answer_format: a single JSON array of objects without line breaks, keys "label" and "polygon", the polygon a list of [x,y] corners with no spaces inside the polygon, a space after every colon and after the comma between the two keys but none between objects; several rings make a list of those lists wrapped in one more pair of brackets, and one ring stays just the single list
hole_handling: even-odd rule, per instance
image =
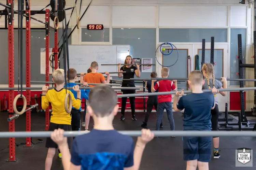
[{"label": "boy in plain navy t-shirt and navy shorts, back turned, right", "polygon": [[[211,110],[215,107],[214,95],[218,90],[213,88],[212,92],[203,92],[203,74],[198,70],[190,72],[188,84],[192,93],[182,96],[183,90],[177,91],[173,101],[174,111],[184,109],[184,131],[211,131]],[[212,137],[183,137],[183,157],[187,161],[187,170],[196,170],[197,166],[198,169],[209,169],[211,147]]]}]

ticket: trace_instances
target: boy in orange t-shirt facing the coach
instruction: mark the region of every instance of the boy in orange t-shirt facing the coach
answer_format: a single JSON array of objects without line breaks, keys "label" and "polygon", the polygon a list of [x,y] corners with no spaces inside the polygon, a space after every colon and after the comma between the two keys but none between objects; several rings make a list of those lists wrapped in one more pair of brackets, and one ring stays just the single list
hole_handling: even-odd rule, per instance
[{"label": "boy in orange t-shirt facing the coach", "polygon": [[[90,66],[91,72],[90,73],[81,73],[80,74],[80,83],[87,82],[87,83],[103,83],[103,84],[109,84],[110,75],[109,72],[105,72],[107,75],[107,80],[103,76],[103,74],[98,73],[99,65],[97,62],[92,62]],[[90,87],[94,87],[94,85],[89,85]],[[85,100],[86,106],[89,106],[88,100]],[[88,114],[88,111],[86,109],[86,115],[85,115],[85,131],[88,131],[90,121],[90,115]]]}]

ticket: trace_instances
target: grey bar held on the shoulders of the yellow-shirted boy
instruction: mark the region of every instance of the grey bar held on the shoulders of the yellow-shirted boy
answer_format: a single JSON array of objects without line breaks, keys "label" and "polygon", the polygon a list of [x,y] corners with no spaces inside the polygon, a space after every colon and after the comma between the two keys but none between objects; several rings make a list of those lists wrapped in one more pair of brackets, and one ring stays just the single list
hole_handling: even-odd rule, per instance
[{"label": "grey bar held on the shoulders of the yellow-shirted boy", "polygon": [[[54,89],[56,87],[49,87],[48,89]],[[94,87],[79,87],[79,89],[93,89]],[[140,87],[112,87],[115,90],[139,90]],[[42,90],[42,87],[23,87],[23,90]],[[73,87],[67,87],[71,90]],[[0,90],[18,90],[18,87],[2,87]],[[20,88],[19,88],[20,90]]]}]

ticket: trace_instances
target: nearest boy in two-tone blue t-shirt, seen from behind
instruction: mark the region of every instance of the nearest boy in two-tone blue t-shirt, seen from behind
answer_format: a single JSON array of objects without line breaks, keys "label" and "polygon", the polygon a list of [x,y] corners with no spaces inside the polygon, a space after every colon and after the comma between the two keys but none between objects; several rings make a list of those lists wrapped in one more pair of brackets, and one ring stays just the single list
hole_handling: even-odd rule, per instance
[{"label": "nearest boy in two-tone blue t-shirt, seen from behind", "polygon": [[63,130],[55,130],[51,138],[62,153],[65,170],[124,169],[138,170],[146,143],[154,138],[150,130],[142,129],[134,149],[133,139],[114,130],[113,119],[118,112],[117,94],[110,86],[96,86],[90,90],[88,113],[93,117],[94,129],[77,136],[71,154]]}]

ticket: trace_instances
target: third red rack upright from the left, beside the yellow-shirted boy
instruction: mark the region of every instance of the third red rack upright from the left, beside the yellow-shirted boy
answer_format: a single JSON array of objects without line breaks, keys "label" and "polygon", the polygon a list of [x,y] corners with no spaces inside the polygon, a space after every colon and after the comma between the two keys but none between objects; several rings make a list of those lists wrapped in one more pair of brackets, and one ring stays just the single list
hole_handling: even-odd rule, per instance
[{"label": "third red rack upright from the left, beside the yellow-shirted boy", "polygon": [[[45,22],[48,23],[45,25],[45,81],[49,81],[49,41],[50,41],[50,10],[45,10]],[[49,86],[49,84],[45,84]],[[45,130],[48,131],[49,129],[49,107],[45,110]]]}]

